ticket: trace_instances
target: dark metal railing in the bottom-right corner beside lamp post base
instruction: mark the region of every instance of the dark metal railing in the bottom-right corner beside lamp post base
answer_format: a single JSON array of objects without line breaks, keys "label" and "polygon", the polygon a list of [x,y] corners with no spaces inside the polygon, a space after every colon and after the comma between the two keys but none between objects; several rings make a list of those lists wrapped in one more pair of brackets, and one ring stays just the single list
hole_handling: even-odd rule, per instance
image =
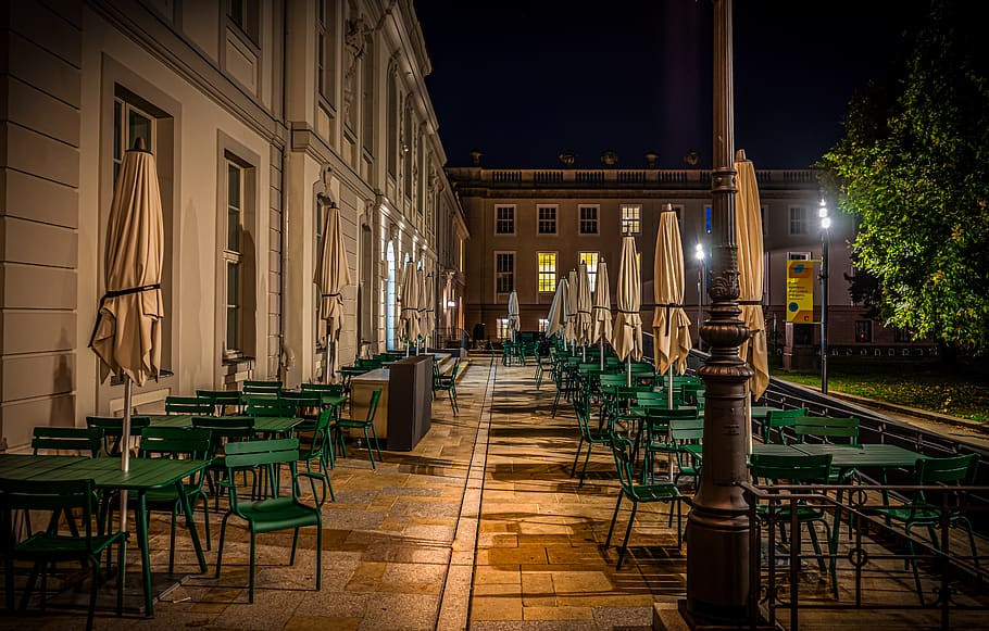
[{"label": "dark metal railing in the bottom-right corner beside lamp post base", "polygon": [[[973,554],[967,539],[957,532],[961,529],[954,528],[959,515],[976,521],[977,514],[987,510],[985,505],[960,504],[959,497],[985,495],[989,487],[743,483],[742,488],[752,523],[750,550],[759,551],[750,564],[753,628],[760,623],[758,613],[774,627],[799,629],[802,618],[821,610],[889,609],[917,611],[910,619],[918,628],[949,629],[955,623],[966,626],[963,620],[954,621],[965,613],[989,609],[985,589],[989,544],[976,535]],[[929,539],[891,526],[882,513],[899,502],[888,497],[922,490],[938,496],[918,506],[940,515]],[[831,531],[830,541],[822,542],[821,554],[804,552],[813,540],[798,518],[810,510],[819,512],[832,529],[838,529]],[[842,526],[847,528],[843,537]],[[919,594],[911,589],[915,585],[914,567]],[[815,570],[822,582],[816,589],[809,588]],[[831,581],[837,584],[837,595]]]}]

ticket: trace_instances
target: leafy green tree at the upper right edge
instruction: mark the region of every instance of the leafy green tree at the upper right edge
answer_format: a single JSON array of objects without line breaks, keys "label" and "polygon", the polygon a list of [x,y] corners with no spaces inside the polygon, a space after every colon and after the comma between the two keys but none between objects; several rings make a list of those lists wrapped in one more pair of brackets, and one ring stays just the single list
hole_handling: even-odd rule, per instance
[{"label": "leafy green tree at the upper right edge", "polygon": [[850,103],[822,184],[854,215],[880,317],[951,350],[989,349],[989,80],[971,5],[936,0],[905,76]]}]

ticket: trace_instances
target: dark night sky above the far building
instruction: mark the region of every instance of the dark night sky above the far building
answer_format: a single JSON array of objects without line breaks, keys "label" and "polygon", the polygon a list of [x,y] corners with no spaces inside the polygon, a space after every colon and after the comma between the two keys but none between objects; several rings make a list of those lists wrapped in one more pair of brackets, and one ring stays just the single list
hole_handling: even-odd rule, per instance
[{"label": "dark night sky above the far building", "polygon": [[[842,135],[852,94],[888,77],[926,0],[736,0],[735,146],[803,168]],[[450,166],[711,164],[710,0],[416,0]]]}]

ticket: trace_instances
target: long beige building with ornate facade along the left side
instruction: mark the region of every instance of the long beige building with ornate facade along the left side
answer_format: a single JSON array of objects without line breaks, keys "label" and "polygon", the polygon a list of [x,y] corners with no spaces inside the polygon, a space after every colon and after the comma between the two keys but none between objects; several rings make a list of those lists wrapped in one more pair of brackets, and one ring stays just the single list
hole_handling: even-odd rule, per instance
[{"label": "long beige building with ornate facade along the left side", "polygon": [[438,279],[438,301],[460,303],[467,234],[411,0],[0,11],[3,446],[25,445],[34,426],[121,411],[122,388],[99,382],[87,343],[116,168],[138,138],[158,161],[172,373],[135,389],[139,409],[246,378],[322,378],[312,277],[329,204],[354,280],[343,363],[392,339],[406,258]]}]

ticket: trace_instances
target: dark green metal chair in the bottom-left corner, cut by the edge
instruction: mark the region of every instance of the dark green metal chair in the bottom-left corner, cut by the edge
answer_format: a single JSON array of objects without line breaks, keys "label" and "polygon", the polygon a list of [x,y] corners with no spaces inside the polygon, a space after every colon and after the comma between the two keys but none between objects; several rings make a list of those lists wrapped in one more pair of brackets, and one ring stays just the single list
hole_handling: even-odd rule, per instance
[{"label": "dark green metal chair in the bottom-left corner, cut by the edge", "polygon": [[[0,479],[0,556],[3,558],[5,573],[7,609],[14,611],[14,564],[28,561],[32,565],[27,588],[21,600],[21,609],[27,607],[38,575],[41,575],[41,609],[45,609],[48,573],[46,566],[57,563],[80,561],[85,568],[92,568],[91,589],[89,593],[89,611],[86,617],[87,631],[92,629],[96,597],[102,583],[100,577],[100,556],[111,546],[118,546],[116,613],[123,614],[124,607],[124,568],[126,566],[125,543],[127,533],[109,531],[105,534],[93,533],[93,515],[98,499],[92,480],[9,480]],[[29,535],[21,542],[14,541],[8,533],[13,532],[13,513],[15,510],[43,510],[58,513],[78,513],[83,531],[78,534],[62,534],[55,526],[43,532]]]}]

